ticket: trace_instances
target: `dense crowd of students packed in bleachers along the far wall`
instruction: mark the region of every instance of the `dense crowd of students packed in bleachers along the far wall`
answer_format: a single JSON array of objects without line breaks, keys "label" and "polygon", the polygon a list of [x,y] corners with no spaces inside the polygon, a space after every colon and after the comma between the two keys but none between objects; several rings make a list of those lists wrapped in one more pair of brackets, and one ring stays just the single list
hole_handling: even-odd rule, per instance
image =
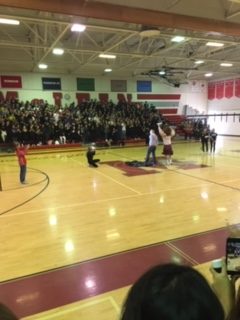
[{"label": "dense crowd of students packed in bleachers along the far wall", "polygon": [[145,104],[91,100],[64,108],[47,102],[4,101],[0,103],[0,143],[30,145],[55,143],[113,142],[144,139],[161,120],[158,110]]}]

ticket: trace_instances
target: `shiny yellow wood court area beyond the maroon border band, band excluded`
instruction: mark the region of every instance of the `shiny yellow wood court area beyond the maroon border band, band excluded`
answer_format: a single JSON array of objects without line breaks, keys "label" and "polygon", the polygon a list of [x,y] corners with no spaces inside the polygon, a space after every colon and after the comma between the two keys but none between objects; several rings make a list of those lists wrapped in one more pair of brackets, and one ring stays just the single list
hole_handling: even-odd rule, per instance
[{"label": "shiny yellow wood court area beyond the maroon border band, band excluded", "polygon": [[123,164],[145,146],[98,150],[96,169],[81,150],[29,154],[24,186],[16,158],[1,157],[0,281],[238,223],[239,140],[217,146],[175,143],[172,166],[140,174]]}]

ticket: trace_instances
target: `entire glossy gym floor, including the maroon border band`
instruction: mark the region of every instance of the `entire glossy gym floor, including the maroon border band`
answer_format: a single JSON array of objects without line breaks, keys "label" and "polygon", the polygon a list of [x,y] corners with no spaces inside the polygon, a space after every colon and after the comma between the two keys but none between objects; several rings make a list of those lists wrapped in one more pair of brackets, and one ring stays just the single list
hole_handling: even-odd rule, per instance
[{"label": "entire glossy gym floor, including the maroon border band", "polygon": [[28,319],[117,319],[127,288],[167,261],[224,255],[226,224],[240,222],[239,138],[216,153],[174,142],[166,167],[135,168],[146,146],[29,151],[27,185],[15,155],[0,157],[0,301]]}]

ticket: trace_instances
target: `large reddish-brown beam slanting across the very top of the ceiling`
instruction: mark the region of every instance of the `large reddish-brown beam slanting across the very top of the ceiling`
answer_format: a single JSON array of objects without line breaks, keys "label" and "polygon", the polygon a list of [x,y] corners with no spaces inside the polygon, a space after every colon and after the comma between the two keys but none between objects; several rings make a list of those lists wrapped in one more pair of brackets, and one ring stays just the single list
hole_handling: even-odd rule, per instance
[{"label": "large reddish-brown beam slanting across the very top of the ceiling", "polygon": [[190,17],[160,11],[130,8],[85,0],[0,0],[7,7],[55,12],[79,17],[91,17],[137,23],[147,26],[161,26],[173,29],[214,31],[226,35],[240,36],[240,24],[222,20]]}]

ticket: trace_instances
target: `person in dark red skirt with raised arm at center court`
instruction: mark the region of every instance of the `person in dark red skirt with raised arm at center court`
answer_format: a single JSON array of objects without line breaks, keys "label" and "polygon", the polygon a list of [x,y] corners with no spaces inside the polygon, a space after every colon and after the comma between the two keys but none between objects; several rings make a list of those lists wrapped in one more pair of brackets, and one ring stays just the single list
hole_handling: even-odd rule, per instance
[{"label": "person in dark red skirt with raised arm at center court", "polygon": [[175,130],[172,129],[170,126],[164,127],[164,129],[161,128],[161,122],[159,122],[158,125],[158,131],[160,136],[163,140],[163,154],[166,157],[166,165],[172,164],[172,155],[173,155],[173,149],[172,149],[172,137],[175,135]]}]

